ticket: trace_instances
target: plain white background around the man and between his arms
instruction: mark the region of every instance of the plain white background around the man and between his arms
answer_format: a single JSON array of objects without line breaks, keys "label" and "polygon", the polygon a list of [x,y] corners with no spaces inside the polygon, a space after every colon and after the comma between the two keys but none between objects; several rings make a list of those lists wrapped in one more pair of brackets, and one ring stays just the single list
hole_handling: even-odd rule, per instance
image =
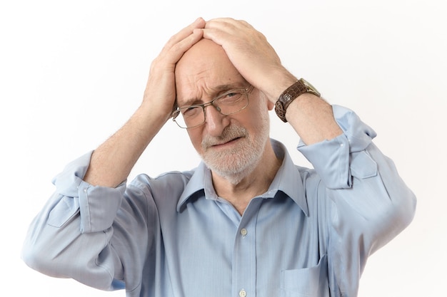
[{"label": "plain white background around the man and between his arms", "polygon": [[[155,3],[156,2],[156,3]],[[413,223],[373,254],[359,296],[442,296],[446,282],[445,1],[2,1],[1,296],[124,296],[43,276],[20,259],[51,179],[139,105],[151,61],[198,16],[245,19],[293,74],[376,132],[418,197]],[[295,162],[298,139],[272,114]],[[199,162],[167,123],[134,168],[157,175]]]}]

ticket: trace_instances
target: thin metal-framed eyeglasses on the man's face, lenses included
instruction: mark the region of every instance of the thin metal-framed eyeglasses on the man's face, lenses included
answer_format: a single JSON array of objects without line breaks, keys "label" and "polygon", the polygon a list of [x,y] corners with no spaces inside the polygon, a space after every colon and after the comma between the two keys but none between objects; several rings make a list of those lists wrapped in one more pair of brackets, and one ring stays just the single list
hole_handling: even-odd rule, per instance
[{"label": "thin metal-framed eyeglasses on the man's face, lenses included", "polygon": [[208,103],[179,108],[171,114],[172,120],[184,129],[203,125],[206,120],[205,108],[209,105],[213,105],[222,115],[233,115],[248,106],[248,93],[252,90],[253,85],[246,89],[228,90]]}]

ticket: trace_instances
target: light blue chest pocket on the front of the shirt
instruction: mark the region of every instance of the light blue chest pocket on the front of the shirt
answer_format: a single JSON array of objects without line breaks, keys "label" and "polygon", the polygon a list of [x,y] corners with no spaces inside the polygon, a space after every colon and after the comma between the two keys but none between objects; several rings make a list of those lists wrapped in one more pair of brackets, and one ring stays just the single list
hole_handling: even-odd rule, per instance
[{"label": "light blue chest pocket on the front of the shirt", "polygon": [[316,266],[281,271],[281,297],[328,297],[328,288],[326,254]]}]

